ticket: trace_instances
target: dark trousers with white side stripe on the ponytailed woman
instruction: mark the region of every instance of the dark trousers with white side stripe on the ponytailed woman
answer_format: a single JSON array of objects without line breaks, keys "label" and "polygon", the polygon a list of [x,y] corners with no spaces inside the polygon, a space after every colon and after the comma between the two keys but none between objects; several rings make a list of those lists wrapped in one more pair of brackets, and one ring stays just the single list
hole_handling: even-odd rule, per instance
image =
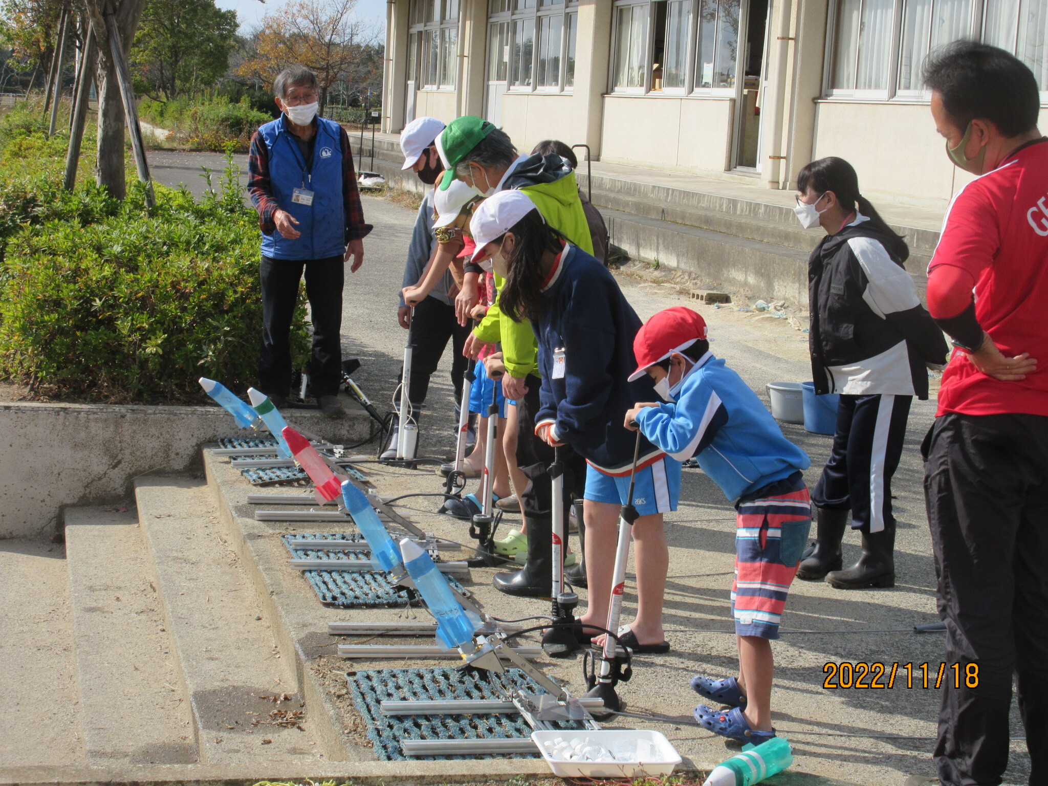
[{"label": "dark trousers with white side stripe on the ponytailed woman", "polygon": [[811,493],[817,507],[852,511],[852,527],[879,532],[895,526],[892,476],[902,455],[913,396],[840,396],[837,430]]}]

